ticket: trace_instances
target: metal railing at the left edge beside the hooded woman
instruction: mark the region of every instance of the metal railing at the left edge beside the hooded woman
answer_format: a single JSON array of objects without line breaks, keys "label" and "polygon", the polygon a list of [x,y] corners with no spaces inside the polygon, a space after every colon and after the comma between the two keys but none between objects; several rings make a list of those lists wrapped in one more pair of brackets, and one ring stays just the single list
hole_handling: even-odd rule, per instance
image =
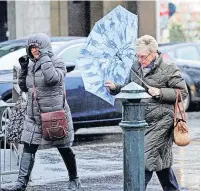
[{"label": "metal railing at the left edge beside the hooded woman", "polygon": [[8,124],[11,109],[15,105],[15,102],[17,101],[20,92],[19,86],[17,85],[17,74],[18,71],[14,68],[13,80],[0,80],[0,84],[13,83],[13,103],[6,103],[0,97],[0,190],[4,175],[18,174],[19,172],[20,157],[22,150],[21,145],[8,143],[6,140],[6,127]]}]

